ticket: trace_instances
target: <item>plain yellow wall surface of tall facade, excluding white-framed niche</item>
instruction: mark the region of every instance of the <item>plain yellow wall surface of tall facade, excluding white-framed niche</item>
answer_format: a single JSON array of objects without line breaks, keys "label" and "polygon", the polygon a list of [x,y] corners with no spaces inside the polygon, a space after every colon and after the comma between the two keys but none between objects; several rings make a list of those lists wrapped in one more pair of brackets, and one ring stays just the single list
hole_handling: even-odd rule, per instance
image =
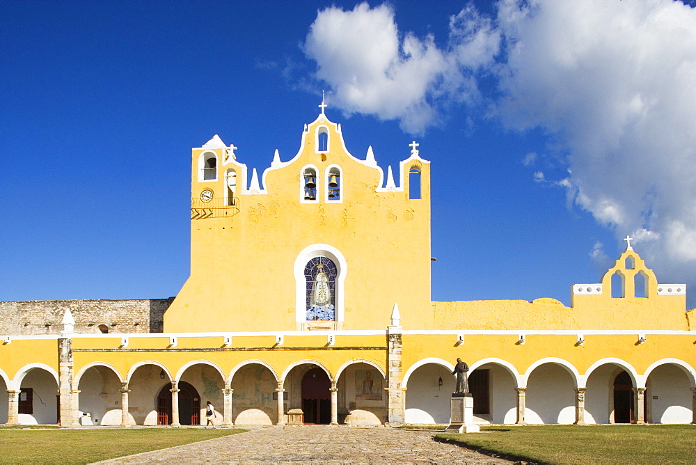
[{"label": "plain yellow wall surface of tall facade, excluding white-framed niche", "polygon": [[[406,328],[432,324],[427,311],[429,164],[416,158],[403,167],[404,181],[411,166],[420,168],[420,199],[409,199],[408,186],[404,191],[377,192],[377,166],[349,155],[338,126],[322,118],[303,133],[292,161],[267,171],[267,194],[239,194],[239,212],[233,209],[232,216],[191,220],[191,276],[164,315],[165,331],[296,329],[293,267],[299,253],[313,244],[333,246],[347,261],[342,329],[386,326],[395,302]],[[327,153],[315,150],[319,126],[329,128]],[[232,158],[223,164],[223,151],[215,150],[217,180],[199,182],[198,159],[205,150],[193,150],[194,203],[204,189],[222,196],[224,173],[230,167],[237,170],[237,192],[241,191],[242,165]],[[301,173],[308,164],[318,168],[321,178],[317,203],[301,203]],[[323,173],[333,164],[342,169],[341,203],[326,201],[321,188],[326,184]],[[395,182],[399,182],[398,170]]]}]

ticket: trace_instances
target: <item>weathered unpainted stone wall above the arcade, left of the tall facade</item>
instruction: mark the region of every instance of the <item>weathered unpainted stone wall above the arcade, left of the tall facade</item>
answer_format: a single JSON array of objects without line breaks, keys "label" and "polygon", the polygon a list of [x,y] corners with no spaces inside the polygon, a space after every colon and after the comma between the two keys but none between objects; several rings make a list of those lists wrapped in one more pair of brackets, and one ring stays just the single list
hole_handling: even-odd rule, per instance
[{"label": "weathered unpainted stone wall above the arcade, left of the tall facade", "polygon": [[141,300],[0,301],[0,335],[58,334],[70,308],[77,333],[161,333],[174,297]]}]

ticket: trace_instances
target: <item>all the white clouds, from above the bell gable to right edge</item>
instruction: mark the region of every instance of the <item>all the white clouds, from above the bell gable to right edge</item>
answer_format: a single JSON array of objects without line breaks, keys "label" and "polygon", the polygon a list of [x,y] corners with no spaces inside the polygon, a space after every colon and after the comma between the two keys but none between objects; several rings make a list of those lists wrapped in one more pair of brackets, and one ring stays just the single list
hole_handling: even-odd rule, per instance
[{"label": "all the white clouds, from above the bell gable to right edge", "polygon": [[333,105],[412,133],[452,102],[490,104],[477,78],[494,73],[496,116],[512,129],[544,129],[569,168],[562,180],[541,171],[535,180],[564,187],[617,243],[633,234],[661,281],[689,281],[696,294],[696,9],[500,0],[495,19],[469,3],[449,26],[439,49],[431,36],[400,33],[390,6],[331,7],[304,49]]}]

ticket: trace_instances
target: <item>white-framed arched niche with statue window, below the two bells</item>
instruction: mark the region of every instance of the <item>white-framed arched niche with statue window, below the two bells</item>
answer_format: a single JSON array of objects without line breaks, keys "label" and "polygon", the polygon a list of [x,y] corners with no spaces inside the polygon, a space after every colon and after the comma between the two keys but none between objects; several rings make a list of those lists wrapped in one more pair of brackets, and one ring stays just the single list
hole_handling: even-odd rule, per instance
[{"label": "white-framed arched niche with statue window, below the two bells", "polygon": [[299,331],[342,328],[347,267],[343,254],[328,244],[313,244],[297,255],[293,273]]}]

